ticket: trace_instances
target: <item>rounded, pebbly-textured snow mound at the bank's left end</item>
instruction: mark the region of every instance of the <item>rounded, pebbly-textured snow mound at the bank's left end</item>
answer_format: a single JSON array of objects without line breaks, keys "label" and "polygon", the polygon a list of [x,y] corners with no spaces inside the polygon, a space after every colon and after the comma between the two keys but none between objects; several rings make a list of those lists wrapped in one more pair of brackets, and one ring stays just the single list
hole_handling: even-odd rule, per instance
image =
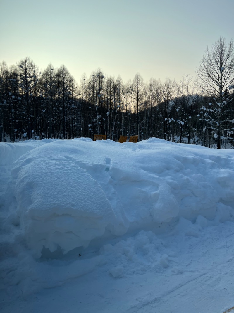
[{"label": "rounded, pebbly-textured snow mound at the bank's left end", "polygon": [[21,227],[35,255],[43,246],[51,252],[60,246],[63,253],[86,247],[116,219],[99,183],[60,146],[48,144],[23,156],[12,177]]}]

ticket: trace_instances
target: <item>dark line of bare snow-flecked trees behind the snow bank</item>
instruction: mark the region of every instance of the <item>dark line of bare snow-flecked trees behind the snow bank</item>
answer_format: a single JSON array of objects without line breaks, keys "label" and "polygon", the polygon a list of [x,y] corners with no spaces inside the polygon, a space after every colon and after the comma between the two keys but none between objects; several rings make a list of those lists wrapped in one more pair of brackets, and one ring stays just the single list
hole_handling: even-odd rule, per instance
[{"label": "dark line of bare snow-flecked trees behind the snow bank", "polygon": [[[224,71],[224,69],[222,70]],[[101,69],[78,85],[68,69],[51,64],[40,73],[28,57],[0,64],[0,141],[139,135],[220,148],[233,145],[233,89],[199,90],[190,76],[124,83]],[[222,99],[221,99],[222,98]],[[220,145],[220,146],[219,146]],[[230,147],[230,145],[229,145]]]}]

